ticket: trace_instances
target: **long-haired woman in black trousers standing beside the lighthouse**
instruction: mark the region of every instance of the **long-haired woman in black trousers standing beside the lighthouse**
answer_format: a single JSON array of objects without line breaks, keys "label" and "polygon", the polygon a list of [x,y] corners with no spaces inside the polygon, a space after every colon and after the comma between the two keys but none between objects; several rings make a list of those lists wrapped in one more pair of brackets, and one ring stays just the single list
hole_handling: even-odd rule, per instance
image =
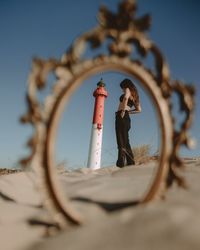
[{"label": "long-haired woman in black trousers standing beside the lighthouse", "polygon": [[[129,143],[128,131],[131,128],[129,114],[141,112],[138,91],[129,79],[120,83],[124,94],[119,98],[119,107],[116,112],[115,131],[118,145],[118,159],[116,165],[120,168],[126,165],[134,165],[134,156]],[[134,109],[132,109],[134,107]]]}]

